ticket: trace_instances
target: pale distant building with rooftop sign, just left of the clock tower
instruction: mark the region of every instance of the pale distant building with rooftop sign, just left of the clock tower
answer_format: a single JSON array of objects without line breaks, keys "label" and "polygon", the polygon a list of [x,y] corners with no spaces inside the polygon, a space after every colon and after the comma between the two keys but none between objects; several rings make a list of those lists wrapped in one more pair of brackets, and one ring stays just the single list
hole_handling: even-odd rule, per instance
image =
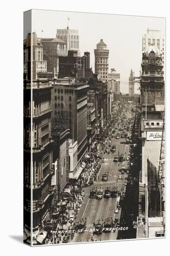
[{"label": "pale distant building with rooftop sign, just left of the clock tower", "polygon": [[111,93],[120,93],[120,73],[114,68],[111,68],[111,73],[108,74],[108,88]]}]

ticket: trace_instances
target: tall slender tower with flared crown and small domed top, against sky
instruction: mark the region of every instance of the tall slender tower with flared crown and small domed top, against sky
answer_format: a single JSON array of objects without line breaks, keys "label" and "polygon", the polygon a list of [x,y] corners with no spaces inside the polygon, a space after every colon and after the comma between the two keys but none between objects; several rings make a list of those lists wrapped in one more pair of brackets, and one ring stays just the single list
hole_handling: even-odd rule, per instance
[{"label": "tall slender tower with flared crown and small domed top, against sky", "polygon": [[95,73],[102,81],[108,81],[108,68],[109,68],[109,50],[103,39],[97,44],[97,49],[94,49],[95,56]]}]

